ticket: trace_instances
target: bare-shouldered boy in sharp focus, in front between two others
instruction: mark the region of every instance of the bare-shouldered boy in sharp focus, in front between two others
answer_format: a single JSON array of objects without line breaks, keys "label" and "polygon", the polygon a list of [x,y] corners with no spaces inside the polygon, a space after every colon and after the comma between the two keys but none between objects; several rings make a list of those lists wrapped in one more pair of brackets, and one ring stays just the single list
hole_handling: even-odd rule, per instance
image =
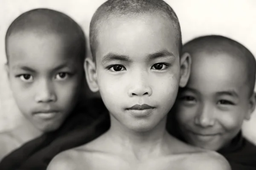
[{"label": "bare-shouldered boy in sharp focus, in front between two others", "polygon": [[168,4],[108,0],[93,15],[90,45],[87,82],[100,92],[111,127],[93,142],[56,156],[48,170],[230,169],[217,153],[188,146],[166,131],[167,113],[190,70]]}]

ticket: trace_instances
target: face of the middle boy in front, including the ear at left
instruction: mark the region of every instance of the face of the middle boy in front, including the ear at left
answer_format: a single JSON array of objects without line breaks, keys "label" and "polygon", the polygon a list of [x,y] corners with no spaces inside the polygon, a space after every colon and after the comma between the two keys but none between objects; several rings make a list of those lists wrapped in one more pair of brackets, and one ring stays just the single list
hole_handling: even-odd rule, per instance
[{"label": "face of the middle boy in front, including the ear at left", "polygon": [[[87,82],[92,91],[99,89],[113,119],[135,131],[151,130],[159,122],[164,123],[162,120],[177,95],[180,61],[174,42],[176,33],[170,31],[175,29],[166,18],[151,14],[110,19],[108,23],[111,25],[102,26],[99,31],[97,64],[87,59]],[[160,55],[161,51],[170,51],[174,56]],[[109,54],[112,57],[102,62]],[[155,71],[152,67],[156,63],[166,63],[169,67]],[[114,73],[110,69],[113,65],[125,69]]]}]

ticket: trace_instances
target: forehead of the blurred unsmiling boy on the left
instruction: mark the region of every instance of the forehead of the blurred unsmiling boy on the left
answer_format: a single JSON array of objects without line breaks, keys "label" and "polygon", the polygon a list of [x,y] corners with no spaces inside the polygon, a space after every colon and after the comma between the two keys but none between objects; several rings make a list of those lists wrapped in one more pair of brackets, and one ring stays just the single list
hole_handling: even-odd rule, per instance
[{"label": "forehead of the blurred unsmiling boy on the left", "polygon": [[7,41],[9,63],[23,59],[35,59],[37,56],[55,57],[56,59],[72,58],[67,50],[69,42],[57,34],[39,35],[23,32],[12,34]]}]

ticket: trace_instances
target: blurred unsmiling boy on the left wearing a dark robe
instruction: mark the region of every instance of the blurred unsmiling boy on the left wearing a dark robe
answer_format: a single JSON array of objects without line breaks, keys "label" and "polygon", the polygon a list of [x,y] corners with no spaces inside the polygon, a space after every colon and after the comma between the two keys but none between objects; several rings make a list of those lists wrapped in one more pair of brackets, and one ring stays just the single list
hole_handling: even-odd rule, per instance
[{"label": "blurred unsmiling boy on the left wearing a dark robe", "polygon": [[12,152],[1,161],[1,170],[45,170],[57,153],[98,135],[94,128],[105,118],[95,121],[96,113],[104,105],[95,107],[94,115],[81,111],[85,37],[73,19],[46,8],[21,14],[7,30],[6,57],[24,117],[21,125],[0,134],[0,159]]}]

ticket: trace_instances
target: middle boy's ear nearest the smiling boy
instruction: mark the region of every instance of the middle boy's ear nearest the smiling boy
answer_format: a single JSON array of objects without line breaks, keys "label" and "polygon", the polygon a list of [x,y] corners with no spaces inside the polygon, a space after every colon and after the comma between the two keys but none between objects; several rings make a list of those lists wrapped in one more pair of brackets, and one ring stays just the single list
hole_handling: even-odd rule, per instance
[{"label": "middle boy's ear nearest the smiling boy", "polygon": [[186,86],[191,69],[191,56],[189,53],[184,53],[180,56],[180,87]]}]

